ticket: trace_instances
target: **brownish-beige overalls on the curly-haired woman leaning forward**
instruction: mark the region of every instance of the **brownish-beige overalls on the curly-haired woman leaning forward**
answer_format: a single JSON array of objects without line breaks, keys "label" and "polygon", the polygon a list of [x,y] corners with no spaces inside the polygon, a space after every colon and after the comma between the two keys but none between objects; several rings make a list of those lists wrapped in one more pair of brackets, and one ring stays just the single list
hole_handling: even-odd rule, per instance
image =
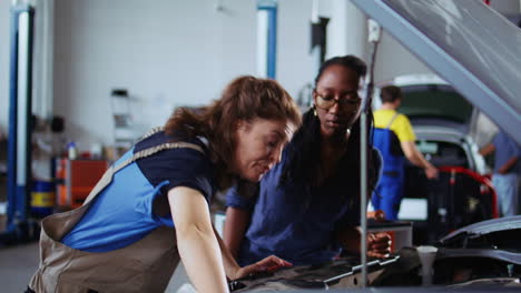
[{"label": "brownish-beige overalls on the curly-haired woman leaning forward", "polygon": [[[160,130],[156,129],[146,137]],[[156,216],[151,212],[151,196],[157,193],[157,190],[142,180],[142,173],[136,169],[136,161],[164,150],[180,148],[189,148],[205,153],[199,145],[181,141],[153,145],[136,153],[127,152],[107,170],[81,208],[43,219],[41,222],[40,265],[29,283],[29,289],[35,292],[67,293],[165,292],[179,262],[175,230],[171,228],[174,223],[170,223],[169,226],[158,223],[134,243],[124,243],[107,232],[104,238],[124,244],[111,251],[92,252],[71,247],[66,243],[66,235],[76,229],[78,223],[81,223],[83,216],[88,216],[90,209],[97,209],[97,202],[102,200],[102,195],[107,192],[110,192],[110,195],[124,196],[119,199],[120,206],[130,203],[136,206],[131,210],[148,211],[149,216],[141,213],[141,224],[142,226],[154,225],[149,218]],[[136,174],[131,174],[129,178],[128,172],[136,172]],[[119,183],[112,184],[116,181]],[[129,190],[125,191],[124,189],[127,186]],[[116,192],[121,194],[115,194],[110,191],[115,188]],[[142,192],[139,193],[136,189]],[[136,200],[136,198],[132,199],[135,194],[149,199],[149,204]],[[116,210],[118,206],[107,211],[107,213],[118,212]],[[112,216],[115,215],[112,214]],[[130,215],[127,216],[139,215],[132,215],[130,212]],[[125,221],[122,222],[125,223]],[[163,220],[158,219],[158,222],[163,222]],[[107,224],[110,223],[107,222]],[[128,225],[125,228],[128,229]],[[96,246],[96,243],[92,245]]]}]

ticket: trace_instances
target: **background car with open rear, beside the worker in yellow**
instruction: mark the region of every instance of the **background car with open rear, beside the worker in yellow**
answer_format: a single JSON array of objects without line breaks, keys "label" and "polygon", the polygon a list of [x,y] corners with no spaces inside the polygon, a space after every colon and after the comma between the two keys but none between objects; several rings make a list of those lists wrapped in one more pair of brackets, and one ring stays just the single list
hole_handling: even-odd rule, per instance
[{"label": "background car with open rear, beside the worker in yellow", "polygon": [[488,170],[476,140],[490,139],[497,127],[435,74],[377,83],[373,109],[380,107],[380,89],[385,85],[401,88],[399,112],[413,124],[417,149],[441,168],[439,179],[426,180],[422,169],[406,163],[399,219],[413,222],[413,243],[434,243],[454,229],[495,216],[493,193],[483,192]]}]

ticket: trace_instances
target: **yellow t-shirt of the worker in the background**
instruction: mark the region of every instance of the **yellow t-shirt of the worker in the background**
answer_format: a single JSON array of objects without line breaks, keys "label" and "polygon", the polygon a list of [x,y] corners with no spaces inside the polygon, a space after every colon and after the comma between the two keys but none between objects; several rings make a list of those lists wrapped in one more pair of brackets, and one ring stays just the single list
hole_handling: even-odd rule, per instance
[{"label": "yellow t-shirt of the worker in the background", "polygon": [[[385,129],[393,119],[396,111],[394,110],[376,110],[373,112],[374,115],[374,127],[380,129]],[[402,142],[404,141],[414,141],[416,135],[414,135],[413,128],[411,122],[409,121],[407,117],[404,114],[399,114],[393,123],[391,124],[390,129],[396,134],[399,140]]]}]

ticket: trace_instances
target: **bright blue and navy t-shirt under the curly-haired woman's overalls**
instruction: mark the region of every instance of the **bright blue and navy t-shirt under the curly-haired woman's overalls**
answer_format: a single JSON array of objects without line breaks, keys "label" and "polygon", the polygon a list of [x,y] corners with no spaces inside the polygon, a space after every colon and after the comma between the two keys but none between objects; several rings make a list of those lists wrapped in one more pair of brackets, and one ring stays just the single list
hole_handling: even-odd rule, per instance
[{"label": "bright blue and navy t-shirt under the curly-haired woman's overalls", "polygon": [[[136,152],[171,140],[164,132],[156,133],[138,142],[115,166]],[[183,141],[206,150],[198,139]],[[209,202],[215,192],[209,158],[194,149],[169,149],[119,170],[62,242],[81,251],[106,252],[130,245],[160,225],[174,226],[169,212],[158,215],[153,203],[160,200],[168,205],[167,193],[175,186],[198,190]]]}]

